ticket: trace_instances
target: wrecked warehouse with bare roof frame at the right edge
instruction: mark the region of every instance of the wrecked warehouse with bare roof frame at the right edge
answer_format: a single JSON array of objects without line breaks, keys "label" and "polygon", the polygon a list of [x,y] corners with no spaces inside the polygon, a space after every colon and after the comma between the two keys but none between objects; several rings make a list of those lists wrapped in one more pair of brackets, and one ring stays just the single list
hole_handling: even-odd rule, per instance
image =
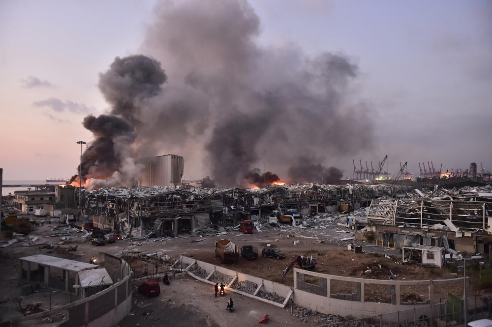
[{"label": "wrecked warehouse with bare roof frame at the right edge", "polygon": [[491,254],[492,202],[375,199],[369,228],[382,244],[442,246],[447,252]]}]

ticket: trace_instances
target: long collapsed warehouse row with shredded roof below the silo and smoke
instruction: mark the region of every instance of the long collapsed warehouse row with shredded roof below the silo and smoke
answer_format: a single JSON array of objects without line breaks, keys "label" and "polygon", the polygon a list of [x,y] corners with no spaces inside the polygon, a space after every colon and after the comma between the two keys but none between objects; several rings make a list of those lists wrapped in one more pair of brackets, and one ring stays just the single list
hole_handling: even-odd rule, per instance
[{"label": "long collapsed warehouse row with shredded roof below the silo and smoke", "polygon": [[[176,237],[210,223],[234,227],[270,214],[302,216],[351,211],[375,197],[404,192],[394,185],[268,186],[259,190],[179,187],[82,191],[82,213],[93,226],[134,237]],[[78,191],[78,190],[76,190]]]}]

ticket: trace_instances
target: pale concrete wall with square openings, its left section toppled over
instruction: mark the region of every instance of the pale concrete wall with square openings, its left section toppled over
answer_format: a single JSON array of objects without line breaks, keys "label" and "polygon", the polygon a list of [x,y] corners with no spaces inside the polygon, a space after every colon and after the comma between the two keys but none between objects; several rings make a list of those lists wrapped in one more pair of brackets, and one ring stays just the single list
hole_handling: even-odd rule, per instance
[{"label": "pale concrete wall with square openings, its left section toppled over", "polygon": [[[376,280],[365,278],[353,278],[328,275],[324,273],[309,272],[306,270],[294,268],[294,289],[283,284],[273,282],[271,280],[263,279],[261,277],[251,276],[245,273],[239,273],[231,269],[215,266],[210,263],[198,261],[188,257],[181,257],[183,260],[183,266],[187,267],[191,264],[198,265],[201,269],[207,271],[209,275],[213,272],[219,272],[224,275],[232,276],[232,281],[237,282],[249,282],[255,283],[259,286],[259,290],[276,293],[277,295],[284,297],[283,303],[274,302],[259,298],[251,295],[250,293],[241,292],[232,289],[233,292],[242,294],[244,296],[254,298],[260,301],[264,301],[269,304],[284,307],[288,298],[292,294],[292,299],[295,304],[305,307],[311,310],[317,310],[325,314],[335,314],[339,316],[351,315],[354,318],[365,318],[383,313],[396,312],[400,310],[408,310],[414,307],[423,308],[419,309],[428,310],[429,304],[434,301],[434,287],[439,288],[443,284],[463,283],[463,278],[443,279],[443,280]],[[191,270],[191,269],[190,269]],[[190,273],[191,274],[191,273]],[[214,284],[214,282],[197,277],[193,277]],[[310,279],[307,279],[310,278]],[[308,282],[308,281],[311,282]],[[354,289],[349,294],[334,294],[332,288],[340,283],[352,283]],[[333,286],[332,286],[333,285]],[[386,289],[389,295],[390,303],[380,303],[379,301],[366,301],[365,288],[378,288]],[[407,289],[408,287],[424,287],[427,289],[427,297],[424,292],[425,302],[421,303],[402,303],[400,290]],[[369,291],[370,292],[370,291]],[[255,292],[256,293],[256,292]],[[335,298],[336,297],[336,298]],[[427,309],[426,309],[427,308]],[[410,317],[413,319],[413,317]]]}]

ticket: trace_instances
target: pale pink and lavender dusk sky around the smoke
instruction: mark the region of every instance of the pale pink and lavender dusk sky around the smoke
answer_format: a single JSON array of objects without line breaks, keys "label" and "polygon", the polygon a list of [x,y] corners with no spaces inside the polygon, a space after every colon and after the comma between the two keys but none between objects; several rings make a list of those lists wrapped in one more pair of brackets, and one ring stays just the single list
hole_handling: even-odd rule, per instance
[{"label": "pale pink and lavender dusk sky around the smoke", "polygon": [[[172,66],[177,61],[166,60],[168,56],[160,53],[165,49],[153,48],[149,41],[148,28],[159,25],[172,6],[172,1],[160,2],[0,1],[4,180],[77,173],[76,142],[93,139],[82,121],[88,114],[109,111],[98,82],[99,73],[106,72],[115,57],[156,58],[173,82],[179,75]],[[353,171],[352,159],[377,166],[385,155],[392,175],[399,162],[408,162],[408,171],[417,174],[418,162],[423,161],[432,161],[436,169],[443,163],[443,170],[466,169],[476,162],[478,169],[482,163],[492,171],[491,1],[250,0],[249,4],[259,19],[254,39],[259,49],[291,51],[303,58],[329,52],[358,67],[344,94],[350,103],[367,109],[374,124],[371,145],[364,147],[368,140],[355,130],[364,125],[346,123],[338,142],[343,145],[346,137],[347,147],[361,146],[346,152],[327,148],[323,164],[342,169],[344,177]],[[364,119],[354,115],[354,121]],[[268,139],[262,143],[268,144]],[[268,151],[268,146],[260,144],[258,149]],[[203,164],[202,150],[188,146],[179,152],[179,146],[162,143],[155,155],[183,155],[184,179],[211,174]],[[262,168],[264,163],[282,178],[286,168],[264,159],[260,151],[254,166]]]}]

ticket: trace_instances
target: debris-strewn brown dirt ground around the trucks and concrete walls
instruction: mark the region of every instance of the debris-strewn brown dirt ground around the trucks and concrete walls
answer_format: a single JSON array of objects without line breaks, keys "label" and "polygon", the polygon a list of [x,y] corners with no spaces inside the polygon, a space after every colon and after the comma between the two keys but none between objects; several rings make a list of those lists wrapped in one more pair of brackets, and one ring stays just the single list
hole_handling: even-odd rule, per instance
[{"label": "debris-strewn brown dirt ground around the trucks and concrete walls", "polygon": [[[43,218],[34,218],[40,222]],[[280,273],[284,270],[292,260],[294,255],[309,254],[313,255],[317,259],[317,266],[315,268],[316,272],[342,275],[342,276],[354,276],[354,277],[364,277],[362,271],[367,270],[370,267],[374,272],[369,278],[377,279],[388,279],[389,272],[396,274],[395,279],[397,280],[427,280],[427,279],[448,279],[456,278],[462,276],[461,262],[455,261],[450,264],[448,268],[430,268],[430,267],[420,267],[415,265],[401,265],[401,252],[396,249],[383,248],[381,246],[373,246],[368,243],[359,241],[359,245],[363,245],[363,250],[366,253],[354,253],[347,250],[347,244],[353,241],[341,241],[342,238],[349,237],[353,235],[353,231],[337,225],[337,222],[325,224],[324,226],[313,226],[316,228],[305,228],[301,229],[299,227],[262,227],[261,232],[256,232],[254,234],[243,234],[237,231],[229,232],[227,235],[215,236],[204,234],[200,237],[192,237],[190,235],[184,235],[183,237],[178,237],[174,239],[161,238],[161,239],[143,239],[143,240],[121,240],[117,241],[115,244],[108,244],[105,246],[95,246],[90,243],[90,239],[82,238],[84,233],[71,231],[69,240],[62,240],[62,236],[49,237],[53,234],[65,233],[64,229],[67,227],[58,222],[44,223],[43,225],[34,226],[29,236],[38,237],[36,242],[32,242],[29,237],[17,237],[19,242],[6,247],[0,247],[0,321],[8,319],[9,316],[21,315],[18,306],[15,304],[17,300],[21,299],[20,287],[19,287],[19,271],[20,264],[18,258],[29,256],[33,254],[47,254],[59,256],[62,258],[78,260],[82,262],[89,263],[92,256],[96,256],[99,259],[101,266],[104,262],[103,253],[109,253],[112,255],[121,256],[123,252],[127,252],[129,249],[134,248],[135,251],[140,251],[141,253],[152,253],[161,251],[168,254],[171,258],[177,259],[180,254],[188,257],[195,258],[197,260],[202,260],[205,262],[213,263],[216,265],[220,264],[219,259],[215,257],[215,241],[220,239],[229,239],[234,242],[239,247],[243,245],[253,245],[259,248],[261,253],[261,248],[270,244],[273,247],[278,247],[282,252],[285,253],[286,259],[277,260],[273,258],[263,258],[261,255],[258,259],[253,261],[248,261],[244,258],[240,258],[237,263],[224,264],[224,267],[251,274],[254,276],[262,277],[265,279],[273,280],[285,285],[293,286],[293,273],[290,271],[283,278],[280,277]],[[0,236],[2,241],[8,241],[4,239],[4,230]],[[53,244],[53,249],[43,248],[44,245]],[[78,245],[77,251],[69,252],[67,251],[69,246]],[[390,258],[386,258],[385,255]],[[379,265],[381,268],[379,269]],[[297,267],[294,266],[294,267]],[[147,266],[148,268],[148,266]],[[142,273],[143,267],[134,267],[135,274],[138,275]],[[148,268],[148,272],[152,273],[152,268]],[[473,270],[473,267],[467,265],[466,269],[467,275],[471,276],[471,287],[469,290],[469,295],[484,295],[491,294],[490,289],[481,290],[478,278],[478,272]],[[195,281],[189,280],[185,282],[186,285],[194,285]],[[202,285],[198,283],[197,285]],[[171,287],[176,287],[172,285]],[[182,285],[183,287],[183,285]],[[201,286],[194,286],[201,287]],[[204,287],[209,287],[205,284]],[[333,287],[334,290],[340,288],[340,292],[350,291],[351,285],[336,285]],[[427,287],[425,289],[417,289],[412,287],[411,289],[402,289],[402,299],[403,301],[420,301],[427,300],[425,296],[427,294]],[[381,289],[370,289],[368,290],[366,300],[379,299],[384,300],[386,296],[385,290]],[[176,290],[177,291],[177,290]],[[459,285],[449,285],[448,287],[434,288],[434,298],[436,300],[444,299],[448,292],[454,293],[457,296],[462,295],[462,284]],[[167,290],[162,295],[167,297],[169,292]],[[174,293],[174,292],[173,292]],[[164,306],[159,306],[158,309],[153,309],[154,312],[161,310],[169,310],[176,317],[182,317],[177,320],[174,326],[189,326],[189,323],[181,324],[180,321],[188,321],[189,319],[203,319],[193,321],[192,325],[205,325],[205,326],[226,326],[222,325],[228,317],[225,314],[229,312],[225,311],[225,306],[223,308],[219,305],[219,309],[214,314],[208,314],[211,312],[211,308],[206,305],[202,305],[200,302],[200,297],[197,297],[197,302],[192,300],[186,300],[187,294],[195,294],[193,292],[184,292],[184,299],[179,300],[181,304],[184,304],[183,310],[178,310],[177,305],[170,303],[164,303],[165,301],[159,301]],[[205,292],[208,294],[208,291]],[[135,293],[134,293],[135,295]],[[30,298],[34,295],[23,297],[24,302],[29,302]],[[137,296],[135,295],[135,298]],[[45,297],[46,299],[46,297]],[[171,298],[172,299],[172,298]],[[244,299],[246,301],[246,298]],[[388,300],[388,299],[386,299]],[[247,301],[253,301],[249,300]],[[23,302],[23,303],[24,303]],[[168,301],[169,302],[169,301]],[[172,301],[171,301],[172,303]],[[178,302],[176,302],[178,303]],[[215,303],[215,302],[211,302]],[[238,302],[240,303],[240,302]],[[276,309],[275,307],[265,305],[262,302],[257,302],[259,308],[267,307],[270,309]],[[61,305],[61,304],[59,304]],[[154,304],[153,304],[154,305]],[[208,304],[207,304],[208,305]],[[214,304],[211,304],[214,305]],[[248,304],[252,305],[252,304]],[[233,313],[234,316],[239,316],[239,312],[242,306],[238,306],[238,312]],[[42,305],[43,309],[48,309],[48,304],[46,300]],[[139,315],[138,307],[135,307],[135,316],[130,316],[127,319],[132,319]],[[178,310],[178,311],[176,311]],[[160,311],[159,311],[160,312]],[[199,315],[193,316],[193,312],[202,312]],[[260,311],[258,311],[260,312]],[[261,311],[263,312],[263,311]],[[141,314],[141,313],[140,313]],[[155,315],[155,314],[154,314]],[[225,317],[222,317],[225,315]],[[150,316],[150,315],[148,315]],[[230,315],[229,315],[230,316]],[[255,321],[259,317],[259,314],[255,314]],[[220,317],[220,318],[217,318]],[[139,317],[140,318],[140,317]],[[146,318],[147,319],[147,318]],[[188,320],[186,320],[188,319]],[[225,319],[225,320],[224,320]],[[152,324],[154,320],[149,321]],[[253,320],[251,320],[253,321]],[[283,320],[282,320],[283,321]],[[299,321],[299,320],[297,320]],[[157,321],[156,321],[157,322]],[[280,320],[278,320],[280,323]],[[158,324],[158,323],[156,323]],[[130,326],[130,325],[125,325]],[[254,326],[254,325],[251,325]]]}]

